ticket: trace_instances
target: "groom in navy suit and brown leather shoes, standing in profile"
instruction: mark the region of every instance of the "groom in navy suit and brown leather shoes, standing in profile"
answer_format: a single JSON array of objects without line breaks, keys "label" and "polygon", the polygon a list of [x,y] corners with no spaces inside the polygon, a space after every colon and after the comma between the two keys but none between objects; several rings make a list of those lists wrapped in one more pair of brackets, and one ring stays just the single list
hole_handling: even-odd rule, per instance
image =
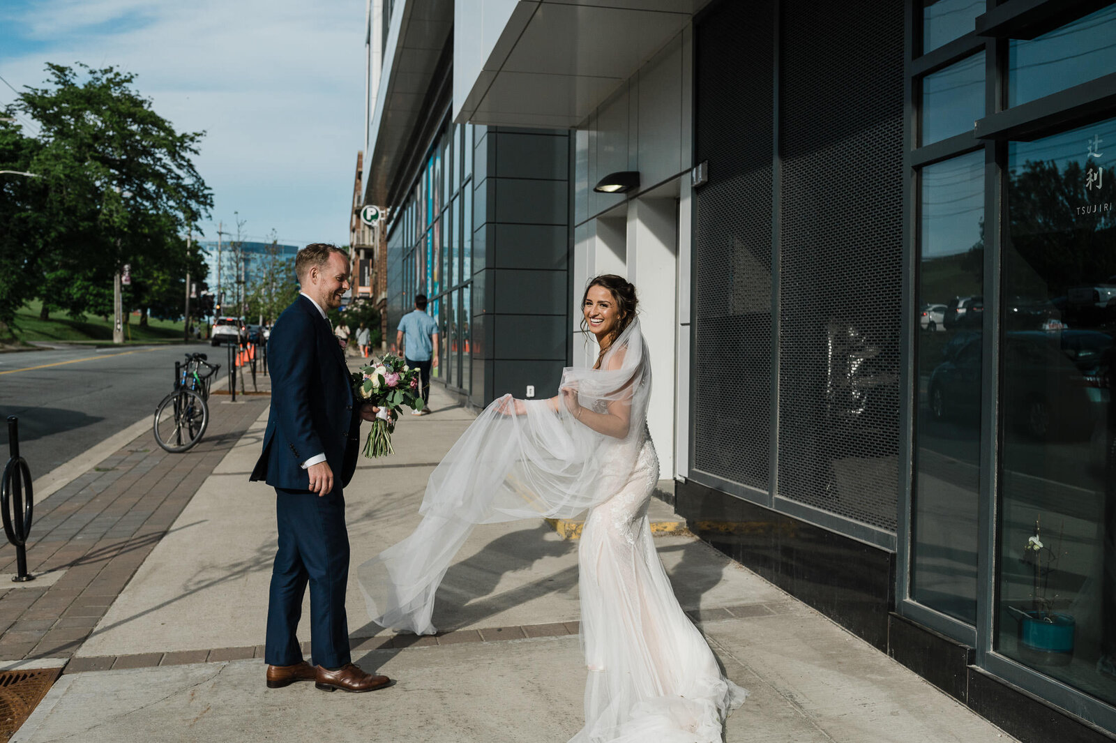
[{"label": "groom in navy suit and brown leather shoes, standing in profile", "polygon": [[[267,683],[278,688],[312,679],[324,692],[371,692],[391,679],[365,673],[349,657],[343,486],[356,470],[360,419],[373,419],[376,408],[354,409],[348,367],[326,318],[349,289],[348,258],[336,245],[312,243],[295,257],[295,273],[300,296],[279,316],[268,340],[271,413],[251,475],[277,494]],[[302,659],[295,636],[307,582],[312,666]]]}]

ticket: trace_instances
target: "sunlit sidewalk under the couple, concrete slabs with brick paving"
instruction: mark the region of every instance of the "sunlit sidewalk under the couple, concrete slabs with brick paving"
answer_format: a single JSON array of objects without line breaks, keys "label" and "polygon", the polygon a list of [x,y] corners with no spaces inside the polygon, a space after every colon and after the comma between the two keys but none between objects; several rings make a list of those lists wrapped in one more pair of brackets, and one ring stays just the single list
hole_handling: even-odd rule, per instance
[{"label": "sunlit sidewalk under the couple, concrete slabs with brick paving", "polygon": [[[167,460],[162,450],[133,451],[151,448],[150,435],[141,436],[106,461],[117,470],[87,473],[85,484],[56,493],[69,495],[33,531],[44,544],[55,534],[59,546],[49,558],[37,556],[37,547],[49,549],[42,544],[29,554],[32,565],[41,558],[65,572],[46,590],[4,591],[0,611],[22,601],[23,611],[65,619],[92,606],[81,617],[96,627],[60,636],[70,628],[56,621],[33,644],[16,637],[28,631],[17,625],[0,636],[0,658],[73,656],[12,741],[561,743],[577,732],[586,674],[577,542],[542,520],[473,532],[443,581],[437,637],[394,638],[366,624],[350,577],[354,659],[392,676],[392,687],[363,695],[324,694],[312,684],[267,689],[260,644],[275,493],[248,482],[267,398],[241,399],[214,405],[213,448]],[[362,460],[346,490],[354,568],[417,523],[426,477],[473,417],[437,387],[431,407],[432,415],[404,416],[395,456]],[[71,510],[65,519],[64,506]],[[55,525],[39,531],[50,519]],[[729,743],[1010,740],[703,542],[677,534],[655,541],[683,607],[729,676],[752,692],[729,721]],[[38,595],[13,596],[27,591]],[[17,619],[26,621],[36,620]]]}]

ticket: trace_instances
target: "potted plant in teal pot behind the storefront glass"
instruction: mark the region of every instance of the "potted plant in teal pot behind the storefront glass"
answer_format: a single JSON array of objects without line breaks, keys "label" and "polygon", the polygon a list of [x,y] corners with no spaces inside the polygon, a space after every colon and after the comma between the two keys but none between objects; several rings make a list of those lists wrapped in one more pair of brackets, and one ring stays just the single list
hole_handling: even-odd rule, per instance
[{"label": "potted plant in teal pot behind the storefront glass", "polygon": [[1039,518],[1035,534],[1027,539],[1022,562],[1031,567],[1031,608],[1012,610],[1019,617],[1019,654],[1023,660],[1046,666],[1066,666],[1074,659],[1074,617],[1055,610],[1058,594],[1050,591],[1050,573],[1061,554],[1061,533],[1054,547],[1042,543]]}]

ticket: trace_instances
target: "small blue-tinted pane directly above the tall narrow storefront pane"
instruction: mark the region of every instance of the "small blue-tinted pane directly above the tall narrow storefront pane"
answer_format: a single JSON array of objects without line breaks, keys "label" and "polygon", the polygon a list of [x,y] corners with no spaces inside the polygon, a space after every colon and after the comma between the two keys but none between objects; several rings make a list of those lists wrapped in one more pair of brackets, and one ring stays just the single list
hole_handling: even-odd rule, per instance
[{"label": "small blue-tinted pane directly above the tall narrow storefront pane", "polygon": [[984,52],[922,79],[921,144],[973,131],[984,116]]}]

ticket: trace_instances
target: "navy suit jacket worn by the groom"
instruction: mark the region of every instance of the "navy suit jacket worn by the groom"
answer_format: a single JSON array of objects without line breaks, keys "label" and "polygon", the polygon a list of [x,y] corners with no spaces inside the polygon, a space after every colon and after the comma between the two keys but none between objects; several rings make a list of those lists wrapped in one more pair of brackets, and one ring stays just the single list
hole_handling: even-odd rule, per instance
[{"label": "navy suit jacket worn by the groom", "polygon": [[359,411],[329,322],[301,295],[271,329],[268,368],[271,415],[251,480],[283,490],[308,490],[302,462],[324,453],[335,488],[347,485],[359,452]]}]

